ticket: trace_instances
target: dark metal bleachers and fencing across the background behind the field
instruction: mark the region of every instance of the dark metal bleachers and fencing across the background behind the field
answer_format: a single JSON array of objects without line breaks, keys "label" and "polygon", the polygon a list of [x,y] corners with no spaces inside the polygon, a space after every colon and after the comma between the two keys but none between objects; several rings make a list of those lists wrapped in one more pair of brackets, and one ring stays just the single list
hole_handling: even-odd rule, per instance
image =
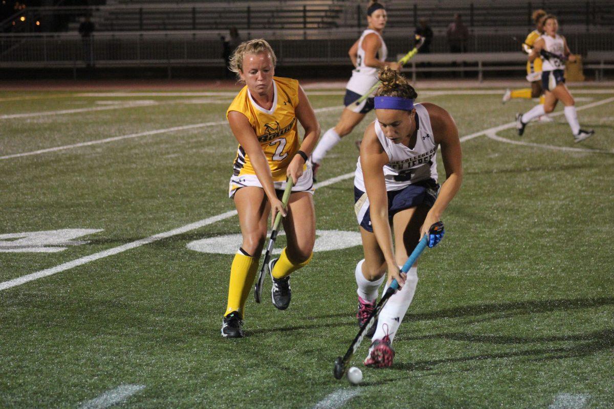
[{"label": "dark metal bleachers and fencing across the background behind the field", "polygon": [[[384,36],[390,56],[413,47],[418,19],[429,18],[435,36],[428,58],[443,59],[430,71],[474,71],[478,78],[503,69],[522,74],[524,66],[519,63],[526,55],[511,36],[524,37],[533,29],[530,13],[538,7],[559,17],[572,52],[588,55],[585,63],[596,78],[604,78],[604,71],[612,69],[612,0],[506,0],[505,6],[500,0],[384,3],[389,15]],[[269,40],[281,66],[322,66],[334,71],[335,66],[350,65],[348,48],[366,26],[366,7],[365,0],[107,0],[87,7],[28,7],[6,22],[24,17],[26,23],[40,20],[42,25],[12,32],[4,29],[0,69],[70,67],[76,73],[85,65],[85,43],[77,29],[80,18],[91,15],[96,30],[88,47],[96,67],[166,67],[169,77],[173,69],[183,67],[222,67],[220,36],[227,36],[234,26],[241,39]],[[462,14],[470,32],[464,58],[448,55],[446,28],[454,13]],[[51,22],[64,17],[72,18],[72,23],[64,29],[50,29]],[[424,58],[414,58],[414,77],[426,70],[415,65]],[[453,68],[448,64],[453,58],[464,63]]]}]

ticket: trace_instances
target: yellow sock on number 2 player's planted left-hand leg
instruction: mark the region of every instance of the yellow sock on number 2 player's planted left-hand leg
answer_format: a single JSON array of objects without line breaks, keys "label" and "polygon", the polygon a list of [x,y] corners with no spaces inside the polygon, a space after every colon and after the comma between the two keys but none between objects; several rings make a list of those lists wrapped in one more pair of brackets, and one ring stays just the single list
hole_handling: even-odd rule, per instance
[{"label": "yellow sock on number 2 player's planted left-hand leg", "polygon": [[235,254],[235,259],[230,267],[230,284],[228,284],[228,305],[224,316],[233,311],[238,311],[244,316],[245,301],[249,296],[258,270],[258,259],[247,256],[242,250]]}]

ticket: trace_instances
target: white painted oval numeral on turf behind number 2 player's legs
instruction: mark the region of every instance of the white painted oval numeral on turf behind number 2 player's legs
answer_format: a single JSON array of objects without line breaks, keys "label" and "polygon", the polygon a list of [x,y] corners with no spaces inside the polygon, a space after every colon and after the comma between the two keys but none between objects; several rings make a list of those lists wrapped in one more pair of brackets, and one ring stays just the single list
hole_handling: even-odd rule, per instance
[{"label": "white painted oval numeral on turf behind number 2 player's legs", "polygon": [[[278,237],[286,235],[284,231],[280,231]],[[271,237],[270,232],[266,234],[266,240]],[[329,251],[340,250],[342,248],[349,248],[359,246],[360,233],[359,232],[347,232],[340,230],[316,230],[316,244],[313,251]],[[219,235],[217,237],[209,237],[208,239],[196,240],[195,242],[187,243],[186,247],[190,250],[200,251],[201,253],[214,253],[214,254],[235,254],[236,249],[241,245],[241,234],[227,234]],[[281,254],[281,250],[284,248],[279,240],[276,248],[273,249],[273,254]]]}]

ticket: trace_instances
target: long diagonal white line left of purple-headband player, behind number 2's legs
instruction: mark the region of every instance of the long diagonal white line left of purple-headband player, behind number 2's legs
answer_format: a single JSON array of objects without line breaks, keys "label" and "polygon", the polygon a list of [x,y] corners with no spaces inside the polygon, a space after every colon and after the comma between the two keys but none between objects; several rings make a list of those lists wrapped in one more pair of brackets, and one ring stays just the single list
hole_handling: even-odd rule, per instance
[{"label": "long diagonal white line left of purple-headband player, behind number 2's legs", "polygon": [[[314,188],[322,188],[324,186],[332,185],[333,183],[340,182],[341,180],[346,180],[351,177],[354,177],[354,172],[350,172],[345,175],[337,176],[332,179],[324,180],[323,182],[316,183]],[[155,234],[146,239],[136,240],[131,243],[126,243],[124,245],[109,248],[108,250],[99,251],[98,253],[90,254],[89,256],[84,256],[82,258],[78,258],[76,260],[72,260],[69,262],[65,262],[60,264],[59,266],[51,267],[50,269],[40,270],[28,275],[23,275],[18,278],[14,278],[13,280],[4,281],[0,283],[0,291],[15,287],[18,285],[22,285],[28,283],[29,281],[38,280],[39,278],[47,277],[49,275],[53,275],[55,273],[63,272],[65,270],[72,269],[77,266],[82,266],[83,264],[87,264],[91,261],[96,261],[101,258],[105,258],[108,256],[113,256],[114,254],[123,253],[126,250],[131,250],[133,248],[141,247],[142,245],[146,245],[149,243],[157,242],[158,240],[167,239],[168,237],[173,237],[174,235],[183,234],[188,231],[192,231],[195,229],[200,229],[200,227],[207,226],[208,224],[216,223],[217,221],[221,221],[224,219],[231,218],[236,215],[236,210],[230,210],[225,213],[221,213],[216,216],[212,216],[203,220],[196,221],[195,223],[186,224],[185,226],[178,227],[177,229],[169,230],[163,233]]]}]

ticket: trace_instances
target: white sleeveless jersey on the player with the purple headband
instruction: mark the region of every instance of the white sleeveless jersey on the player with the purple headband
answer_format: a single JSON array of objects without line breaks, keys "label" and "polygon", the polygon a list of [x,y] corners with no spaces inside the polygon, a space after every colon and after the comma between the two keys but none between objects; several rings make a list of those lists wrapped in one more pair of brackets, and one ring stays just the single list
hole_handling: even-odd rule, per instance
[{"label": "white sleeveless jersey on the player with the purple headband", "polygon": [[[413,149],[406,147],[402,143],[394,143],[384,136],[378,120],[375,120],[375,133],[389,159],[389,162],[384,165],[386,191],[403,189],[413,183],[428,179],[433,179],[437,182],[436,159],[438,145],[433,137],[429,112],[424,105],[416,104],[414,107],[416,108],[418,136],[416,136],[416,146]],[[367,191],[362,175],[362,167],[360,167],[360,157],[358,158],[356,173],[354,174],[354,186],[363,192]]]}]

